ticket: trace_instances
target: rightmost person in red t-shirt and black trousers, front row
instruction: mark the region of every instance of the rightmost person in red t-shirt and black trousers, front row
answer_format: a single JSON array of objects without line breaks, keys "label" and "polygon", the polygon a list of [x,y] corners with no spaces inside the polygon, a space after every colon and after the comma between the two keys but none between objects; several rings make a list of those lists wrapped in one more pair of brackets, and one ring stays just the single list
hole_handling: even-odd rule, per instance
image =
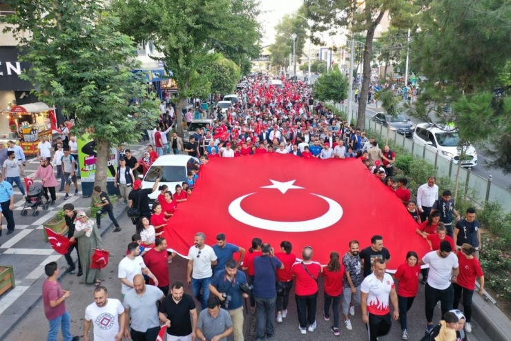
[{"label": "rightmost person in red t-shirt and black trousers, front row", "polygon": [[479,278],[479,295],[484,293],[483,269],[481,269],[479,260],[474,257],[474,252],[476,252],[474,246],[465,243],[461,246],[461,251],[456,253],[459,262],[459,275],[456,277],[456,283],[452,284],[454,287],[453,309],[458,309],[461,294],[463,293],[463,313],[465,318],[467,318],[465,323],[467,331],[472,331],[470,319],[472,318],[472,296],[474,295],[476,278]]}]

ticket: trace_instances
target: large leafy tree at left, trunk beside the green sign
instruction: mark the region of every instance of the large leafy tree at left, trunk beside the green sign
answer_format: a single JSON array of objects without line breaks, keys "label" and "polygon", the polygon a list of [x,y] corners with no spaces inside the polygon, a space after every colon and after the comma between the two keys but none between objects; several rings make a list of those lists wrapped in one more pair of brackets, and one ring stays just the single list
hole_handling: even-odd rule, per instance
[{"label": "large leafy tree at left, trunk beside the green sign", "polygon": [[[134,75],[133,41],[116,30],[119,19],[103,1],[12,1],[14,14],[0,17],[19,39],[22,79],[35,95],[75,115],[73,133],[97,142],[95,185],[106,188],[110,146],[134,142],[154,126],[157,102],[148,97],[145,75]],[[30,32],[28,35],[26,32]],[[131,99],[144,99],[138,106]]]}]

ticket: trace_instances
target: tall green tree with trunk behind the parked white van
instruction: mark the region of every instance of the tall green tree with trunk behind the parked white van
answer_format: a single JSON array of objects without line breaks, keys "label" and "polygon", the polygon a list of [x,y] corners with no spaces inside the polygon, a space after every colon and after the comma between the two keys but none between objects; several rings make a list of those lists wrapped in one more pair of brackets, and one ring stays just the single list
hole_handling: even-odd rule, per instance
[{"label": "tall green tree with trunk behind the parked white van", "polygon": [[179,135],[186,99],[202,93],[207,83],[206,74],[197,70],[204,67],[208,52],[221,46],[231,56],[247,52],[247,46],[256,45],[260,37],[253,32],[259,30],[255,0],[114,0],[113,6],[122,19],[122,32],[137,43],[153,40],[164,54],[165,68],[173,73],[179,93]]}]

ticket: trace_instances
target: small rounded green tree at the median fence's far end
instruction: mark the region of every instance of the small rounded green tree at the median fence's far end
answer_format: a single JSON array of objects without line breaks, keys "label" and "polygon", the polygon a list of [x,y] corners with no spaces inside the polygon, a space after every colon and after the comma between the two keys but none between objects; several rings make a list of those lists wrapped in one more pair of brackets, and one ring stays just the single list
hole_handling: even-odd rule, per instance
[{"label": "small rounded green tree at the median fence's far end", "polygon": [[344,101],[348,95],[348,79],[340,70],[325,72],[314,83],[314,97],[322,101]]}]

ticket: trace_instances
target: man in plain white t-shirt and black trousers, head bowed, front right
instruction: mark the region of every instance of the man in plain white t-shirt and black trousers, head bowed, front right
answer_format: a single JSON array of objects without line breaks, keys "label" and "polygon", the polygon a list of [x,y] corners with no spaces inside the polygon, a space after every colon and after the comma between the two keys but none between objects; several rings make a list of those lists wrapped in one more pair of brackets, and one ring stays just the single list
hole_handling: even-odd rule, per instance
[{"label": "man in plain white t-shirt and black trousers, head bowed, front right", "polygon": [[427,331],[434,327],[433,311],[438,301],[441,303],[441,316],[452,309],[454,302],[452,282],[456,283],[459,274],[458,257],[452,251],[450,242],[443,240],[440,242],[439,250],[426,253],[419,262],[421,265],[430,264],[424,288]]}]

